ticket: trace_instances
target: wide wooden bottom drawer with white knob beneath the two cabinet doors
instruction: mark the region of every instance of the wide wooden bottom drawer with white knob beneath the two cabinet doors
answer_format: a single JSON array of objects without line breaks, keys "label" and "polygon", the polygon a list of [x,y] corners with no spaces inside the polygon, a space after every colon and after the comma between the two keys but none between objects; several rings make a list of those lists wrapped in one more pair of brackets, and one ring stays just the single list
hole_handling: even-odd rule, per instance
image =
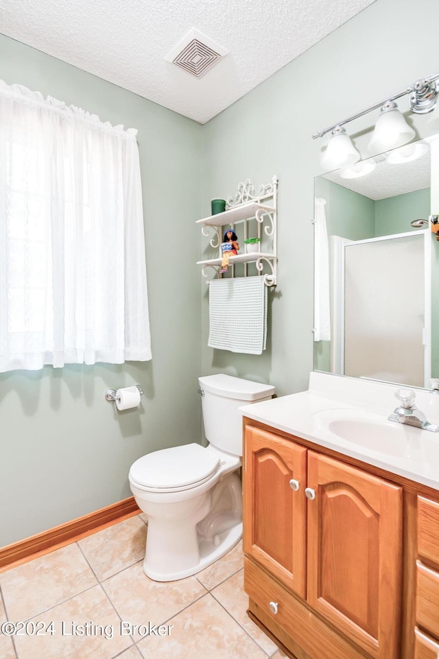
[{"label": "wide wooden bottom drawer with white knob beneath the two cabinet doors", "polygon": [[[364,659],[364,654],[247,557],[244,558],[244,590],[313,659]],[[276,613],[270,603],[276,604]]]}]

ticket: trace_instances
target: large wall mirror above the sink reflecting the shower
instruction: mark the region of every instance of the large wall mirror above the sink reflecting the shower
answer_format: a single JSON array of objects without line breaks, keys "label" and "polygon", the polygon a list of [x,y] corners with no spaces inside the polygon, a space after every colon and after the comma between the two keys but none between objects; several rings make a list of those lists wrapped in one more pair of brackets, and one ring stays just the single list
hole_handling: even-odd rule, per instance
[{"label": "large wall mirror above the sink reflecting the shower", "polygon": [[431,146],[315,179],[314,370],[428,389],[439,378]]}]

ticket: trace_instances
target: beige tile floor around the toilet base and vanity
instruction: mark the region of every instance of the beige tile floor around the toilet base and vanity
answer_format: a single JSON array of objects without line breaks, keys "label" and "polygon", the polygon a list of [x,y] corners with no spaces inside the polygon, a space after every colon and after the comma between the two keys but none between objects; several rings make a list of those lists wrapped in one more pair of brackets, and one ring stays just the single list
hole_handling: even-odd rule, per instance
[{"label": "beige tile floor around the toilet base and vanity", "polygon": [[158,583],[142,569],[146,533],[137,515],[1,574],[0,629],[24,623],[3,625],[1,659],[285,658],[246,614],[241,543]]}]

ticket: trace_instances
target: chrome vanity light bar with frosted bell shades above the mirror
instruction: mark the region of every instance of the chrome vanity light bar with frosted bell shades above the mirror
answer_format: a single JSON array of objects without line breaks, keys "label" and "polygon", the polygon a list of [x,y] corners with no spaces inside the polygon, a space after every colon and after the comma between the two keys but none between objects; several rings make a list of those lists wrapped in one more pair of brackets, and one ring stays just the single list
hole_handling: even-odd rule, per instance
[{"label": "chrome vanity light bar with frosted bell shades above the mirror", "polygon": [[[377,120],[377,124],[375,126],[375,131],[372,136],[372,139],[369,144],[369,148],[373,150],[379,150],[379,151],[385,151],[389,150],[392,148],[396,148],[399,146],[403,146],[407,142],[410,142],[410,140],[413,139],[415,132],[411,126],[407,124],[405,121],[403,115],[401,112],[398,110],[396,103],[394,102],[396,99],[401,98],[402,96],[405,95],[410,95],[409,99],[409,105],[410,105],[410,110],[414,112],[415,114],[418,115],[425,115],[429,112],[434,111],[434,115],[431,117],[431,124],[434,124],[434,127],[439,128],[439,110],[438,110],[438,95],[439,95],[439,73],[436,73],[434,76],[428,76],[427,78],[423,78],[421,80],[416,80],[413,84],[410,86],[406,87],[402,91],[399,91],[398,93],[390,96],[387,99],[384,99],[383,101],[380,101],[379,103],[376,103],[375,105],[370,106],[369,108],[366,108],[366,110],[363,110],[356,115],[353,115],[352,117],[348,117],[348,119],[344,119],[342,122],[337,122],[337,124],[334,124],[333,126],[329,126],[329,128],[325,128],[324,130],[319,130],[313,135],[313,139],[317,139],[318,137],[323,137],[323,135],[327,135],[328,132],[331,132],[331,139],[329,140],[327,150],[322,154],[322,166],[323,167],[341,167],[343,165],[340,164],[334,164],[333,158],[331,157],[331,150],[329,150],[329,146],[331,145],[331,142],[333,141],[335,135],[340,135],[340,132],[343,130],[342,126],[344,124],[348,124],[349,122],[352,122],[354,119],[358,119],[359,117],[362,117],[369,112],[372,112],[373,110],[377,110],[377,108],[381,108],[381,113],[379,115],[379,118]],[[436,124],[436,117],[437,117],[437,124]],[[337,132],[335,132],[337,131]],[[335,135],[334,135],[335,132]],[[344,135],[346,135],[346,132],[344,132]],[[339,142],[340,143],[340,142]],[[347,141],[345,140],[344,143],[347,145]],[[351,143],[352,145],[352,143]],[[329,154],[327,153],[329,150]],[[350,149],[347,148],[347,152],[351,153],[352,152],[357,152],[355,147],[352,145]],[[357,152],[358,153],[358,152]],[[348,158],[348,156],[346,156]],[[350,162],[344,162],[344,165],[349,165],[357,162],[359,158],[356,158],[355,160],[351,160]]]}]

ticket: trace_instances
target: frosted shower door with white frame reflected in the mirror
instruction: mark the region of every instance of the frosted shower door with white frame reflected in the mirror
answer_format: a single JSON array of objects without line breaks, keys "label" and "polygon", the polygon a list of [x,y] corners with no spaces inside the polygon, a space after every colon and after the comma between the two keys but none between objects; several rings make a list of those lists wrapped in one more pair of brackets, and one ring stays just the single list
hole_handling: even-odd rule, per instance
[{"label": "frosted shower door with white frame reflected in the mirror", "polygon": [[[333,342],[343,363],[336,372],[354,377],[427,386],[430,380],[429,240],[425,231],[342,241],[342,308],[333,310]],[[335,243],[336,244],[336,243]],[[339,243],[340,245],[340,243]],[[389,272],[392,264],[391,273]],[[427,281],[426,281],[427,278]]]}]

